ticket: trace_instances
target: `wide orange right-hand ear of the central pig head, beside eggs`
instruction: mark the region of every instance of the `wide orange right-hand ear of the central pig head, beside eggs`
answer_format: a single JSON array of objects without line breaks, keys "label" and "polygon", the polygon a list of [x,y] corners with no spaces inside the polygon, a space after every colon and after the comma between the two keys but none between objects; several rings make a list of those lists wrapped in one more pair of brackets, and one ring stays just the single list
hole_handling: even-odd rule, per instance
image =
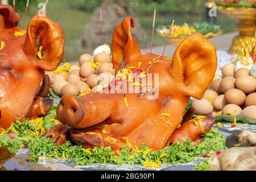
[{"label": "wide orange right-hand ear of the central pig head, beside eggs", "polygon": [[201,99],[213,80],[217,68],[215,46],[200,33],[185,39],[174,53],[171,77],[187,96]]}]

